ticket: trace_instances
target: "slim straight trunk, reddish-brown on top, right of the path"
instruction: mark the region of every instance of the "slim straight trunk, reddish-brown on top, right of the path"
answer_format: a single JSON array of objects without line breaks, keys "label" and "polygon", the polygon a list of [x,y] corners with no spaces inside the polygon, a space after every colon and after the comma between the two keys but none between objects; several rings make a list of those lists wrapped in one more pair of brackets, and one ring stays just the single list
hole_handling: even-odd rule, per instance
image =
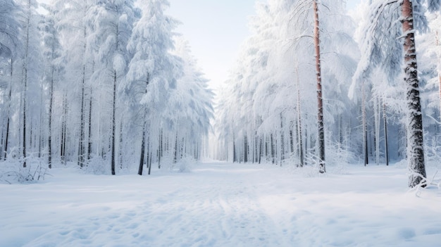
[{"label": "slim straight trunk, reddish-brown on top, right of the path", "polygon": [[321,54],[320,54],[320,30],[318,21],[317,1],[313,0],[314,9],[314,44],[316,47],[316,74],[317,74],[317,101],[318,101],[318,165],[320,173],[325,173],[325,127],[323,125],[323,94],[321,87]]}]

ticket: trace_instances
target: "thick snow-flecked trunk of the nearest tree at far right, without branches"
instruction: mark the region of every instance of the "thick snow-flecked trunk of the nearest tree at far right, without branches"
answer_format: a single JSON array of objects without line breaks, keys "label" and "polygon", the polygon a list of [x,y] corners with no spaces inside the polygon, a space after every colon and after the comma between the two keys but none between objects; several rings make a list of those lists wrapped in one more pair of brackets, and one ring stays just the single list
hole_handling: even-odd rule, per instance
[{"label": "thick snow-flecked trunk of the nearest tree at far right, without branches", "polygon": [[407,159],[409,164],[409,187],[413,188],[426,182],[424,163],[423,118],[421,114],[420,91],[416,63],[414,37],[414,13],[411,0],[402,3],[402,29],[404,33],[404,61],[406,63],[404,78],[407,85]]}]

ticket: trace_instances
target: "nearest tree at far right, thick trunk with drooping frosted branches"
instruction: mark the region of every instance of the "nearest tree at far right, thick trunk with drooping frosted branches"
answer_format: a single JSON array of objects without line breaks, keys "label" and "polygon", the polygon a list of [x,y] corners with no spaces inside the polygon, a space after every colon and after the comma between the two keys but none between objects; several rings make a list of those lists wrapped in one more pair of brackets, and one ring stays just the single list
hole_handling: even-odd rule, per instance
[{"label": "nearest tree at far right, thick trunk with drooping frosted branches", "polygon": [[[407,101],[407,159],[410,171],[409,186],[426,186],[423,151],[423,119],[417,72],[414,32],[427,29],[423,0],[371,1],[366,21],[366,37],[362,42],[362,59],[354,75],[354,83],[365,80],[377,67],[383,68],[390,80],[399,75],[404,57],[404,82]],[[440,8],[441,1],[428,0],[428,10]],[[397,6],[401,13],[397,11]],[[416,9],[417,11],[414,11]],[[397,20],[402,25],[399,28]],[[399,44],[398,37],[403,37]],[[404,54],[404,56],[402,56]],[[353,85],[354,85],[353,83]]]}]

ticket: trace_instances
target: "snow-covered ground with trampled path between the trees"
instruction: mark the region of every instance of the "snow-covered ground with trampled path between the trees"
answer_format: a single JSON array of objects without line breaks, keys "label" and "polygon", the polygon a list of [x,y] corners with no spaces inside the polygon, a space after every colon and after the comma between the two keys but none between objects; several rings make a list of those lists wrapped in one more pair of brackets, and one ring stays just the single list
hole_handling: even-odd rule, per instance
[{"label": "snow-covered ground with trampled path between the trees", "polygon": [[150,177],[56,168],[44,182],[0,184],[0,246],[440,246],[441,191],[408,191],[404,167],[298,173],[229,163]]}]

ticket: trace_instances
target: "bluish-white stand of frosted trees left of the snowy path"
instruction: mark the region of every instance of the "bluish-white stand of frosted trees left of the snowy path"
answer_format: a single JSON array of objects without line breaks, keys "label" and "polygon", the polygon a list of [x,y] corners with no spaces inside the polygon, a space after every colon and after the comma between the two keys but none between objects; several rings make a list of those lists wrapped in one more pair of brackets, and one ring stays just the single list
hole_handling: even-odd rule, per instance
[{"label": "bluish-white stand of frosted trees left of the snowy path", "polygon": [[1,158],[104,174],[200,158],[213,95],[168,1],[0,3]]}]

